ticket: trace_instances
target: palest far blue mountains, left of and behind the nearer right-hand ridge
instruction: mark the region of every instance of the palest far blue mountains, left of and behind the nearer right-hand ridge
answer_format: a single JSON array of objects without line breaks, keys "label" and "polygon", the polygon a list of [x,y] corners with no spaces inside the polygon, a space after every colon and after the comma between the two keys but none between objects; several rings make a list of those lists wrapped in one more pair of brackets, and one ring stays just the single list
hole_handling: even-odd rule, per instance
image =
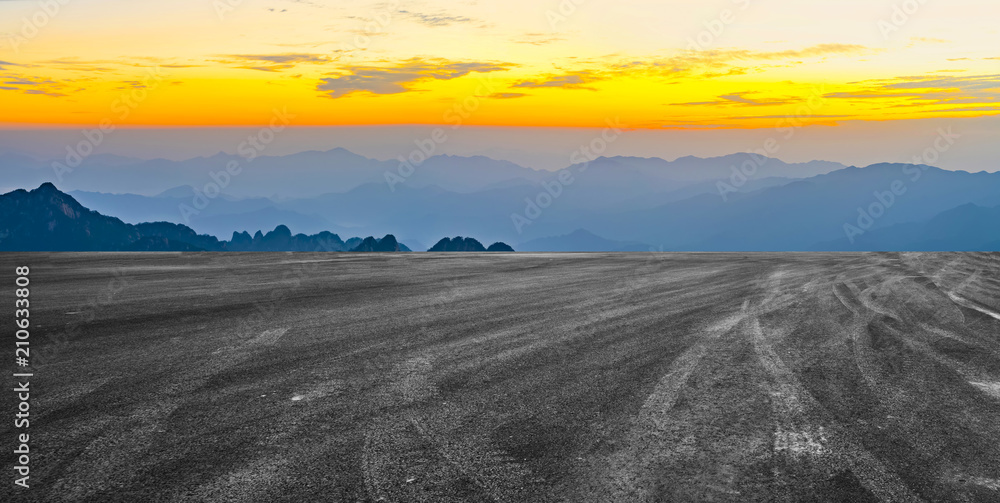
[{"label": "palest far blue mountains, left of and behind the nearer right-hand ridge", "polygon": [[[71,177],[60,187],[72,189],[67,192],[84,207],[125,223],[174,222],[220,241],[229,239],[234,230],[286,225],[306,234],[335,232],[345,239],[347,233],[381,236],[385,230],[398,230],[397,236],[407,243],[427,243],[418,247],[423,250],[441,236],[461,230],[520,249],[518,242],[586,228],[614,240],[670,246],[659,236],[617,234],[602,227],[601,219],[649,212],[699,195],[718,197],[717,185],[723,181],[735,191],[726,193],[732,198],[843,168],[831,162],[792,164],[741,153],[676,160],[601,157],[589,162],[586,170],[576,164],[554,172],[482,156],[438,155],[423,162],[412,176],[401,177],[397,160],[370,159],[338,148],[260,156],[253,169],[239,174],[238,183],[213,187],[216,182],[207,175],[230,161],[242,159],[224,153],[187,160],[95,154],[79,168],[88,176]],[[0,156],[4,173],[0,186],[37,187],[51,177],[50,164]],[[740,174],[745,179],[734,181],[734,173],[747,172],[747,167],[753,173]],[[216,191],[218,195],[206,201],[205,194]],[[548,194],[558,202],[546,209],[542,221],[527,228],[511,224],[512,213],[534,215],[538,198],[545,204]],[[643,226],[641,231],[655,232],[656,225],[644,222]]]}]

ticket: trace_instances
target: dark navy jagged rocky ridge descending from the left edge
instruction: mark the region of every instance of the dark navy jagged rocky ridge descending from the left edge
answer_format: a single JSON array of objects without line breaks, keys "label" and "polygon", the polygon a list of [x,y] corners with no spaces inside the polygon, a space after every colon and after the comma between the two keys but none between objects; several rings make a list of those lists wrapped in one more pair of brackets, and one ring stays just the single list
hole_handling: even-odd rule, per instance
[{"label": "dark navy jagged rocky ridge descending from the left edge", "polygon": [[[253,237],[234,232],[232,241],[198,234],[190,227],[152,222],[127,224],[102,215],[44,183],[32,191],[15,190],[0,195],[0,251],[347,251],[363,245],[360,238],[346,242],[321,232],[292,235],[279,225]],[[409,251],[386,236],[373,251]]]}]

